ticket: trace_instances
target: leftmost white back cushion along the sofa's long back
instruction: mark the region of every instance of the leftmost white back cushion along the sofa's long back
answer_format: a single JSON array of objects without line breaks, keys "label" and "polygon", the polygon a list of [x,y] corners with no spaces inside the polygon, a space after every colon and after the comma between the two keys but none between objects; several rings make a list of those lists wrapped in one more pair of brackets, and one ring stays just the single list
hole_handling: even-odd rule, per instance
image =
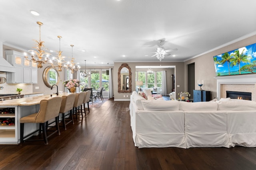
[{"label": "leftmost white back cushion along the sofa's long back", "polygon": [[141,100],[144,110],[179,110],[177,100]]}]

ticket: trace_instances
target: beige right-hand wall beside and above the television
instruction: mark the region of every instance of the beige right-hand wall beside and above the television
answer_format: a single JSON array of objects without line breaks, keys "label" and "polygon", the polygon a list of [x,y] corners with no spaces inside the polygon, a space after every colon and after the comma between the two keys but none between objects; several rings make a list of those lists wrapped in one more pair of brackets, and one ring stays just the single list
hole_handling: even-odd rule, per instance
[{"label": "beige right-hand wall beside and above the television", "polygon": [[[216,55],[220,55],[222,53],[226,53],[228,51],[232,51],[234,49],[244,47],[246,45],[254,44],[254,43],[256,43],[256,35],[243,39],[231,45],[227,45],[226,47],[222,47],[210,53],[204,54],[195,59],[188,60],[184,62],[184,70],[187,69],[187,64],[195,63],[195,88],[199,89],[197,85],[198,79],[204,80],[204,85],[202,86],[202,89],[211,91],[211,98],[214,99],[217,96],[217,92],[216,92],[217,81],[214,78],[216,74],[215,74],[213,57]],[[187,74],[184,74],[184,82],[185,82],[184,90],[187,90],[187,87],[188,87],[186,80],[187,80]]]}]

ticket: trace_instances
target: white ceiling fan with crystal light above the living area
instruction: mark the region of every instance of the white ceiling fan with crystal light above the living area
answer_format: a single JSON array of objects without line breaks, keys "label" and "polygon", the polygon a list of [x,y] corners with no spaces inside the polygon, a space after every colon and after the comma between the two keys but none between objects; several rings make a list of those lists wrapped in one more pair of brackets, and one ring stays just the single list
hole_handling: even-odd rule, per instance
[{"label": "white ceiling fan with crystal light above the living area", "polygon": [[171,55],[170,52],[178,50],[178,49],[164,50],[163,45],[166,42],[167,41],[165,41],[165,38],[159,39],[157,42],[158,47],[156,48],[156,52],[154,52],[156,54],[152,55],[151,57],[156,56],[156,58],[161,61],[162,59],[164,59],[164,56]]}]

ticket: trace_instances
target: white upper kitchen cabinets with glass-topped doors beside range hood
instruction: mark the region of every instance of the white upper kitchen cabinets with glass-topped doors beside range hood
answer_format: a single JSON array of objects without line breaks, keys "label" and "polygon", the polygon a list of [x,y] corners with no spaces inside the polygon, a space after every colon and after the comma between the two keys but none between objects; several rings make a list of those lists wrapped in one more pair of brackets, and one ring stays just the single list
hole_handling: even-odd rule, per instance
[{"label": "white upper kitchen cabinets with glass-topped doors beside range hood", "polygon": [[6,82],[16,83],[37,83],[37,63],[27,61],[24,55],[13,50],[6,50],[6,60],[12,64],[16,72],[6,73]]}]

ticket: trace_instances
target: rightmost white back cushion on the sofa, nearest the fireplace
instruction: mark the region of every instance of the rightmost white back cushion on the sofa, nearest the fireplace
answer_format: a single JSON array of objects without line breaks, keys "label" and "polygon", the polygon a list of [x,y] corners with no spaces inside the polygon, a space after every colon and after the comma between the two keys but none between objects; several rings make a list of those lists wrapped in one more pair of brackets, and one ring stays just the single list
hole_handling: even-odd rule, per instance
[{"label": "rightmost white back cushion on the sofa, nearest the fireplace", "polygon": [[238,100],[216,103],[218,104],[218,110],[256,110],[256,102],[250,100]]}]

